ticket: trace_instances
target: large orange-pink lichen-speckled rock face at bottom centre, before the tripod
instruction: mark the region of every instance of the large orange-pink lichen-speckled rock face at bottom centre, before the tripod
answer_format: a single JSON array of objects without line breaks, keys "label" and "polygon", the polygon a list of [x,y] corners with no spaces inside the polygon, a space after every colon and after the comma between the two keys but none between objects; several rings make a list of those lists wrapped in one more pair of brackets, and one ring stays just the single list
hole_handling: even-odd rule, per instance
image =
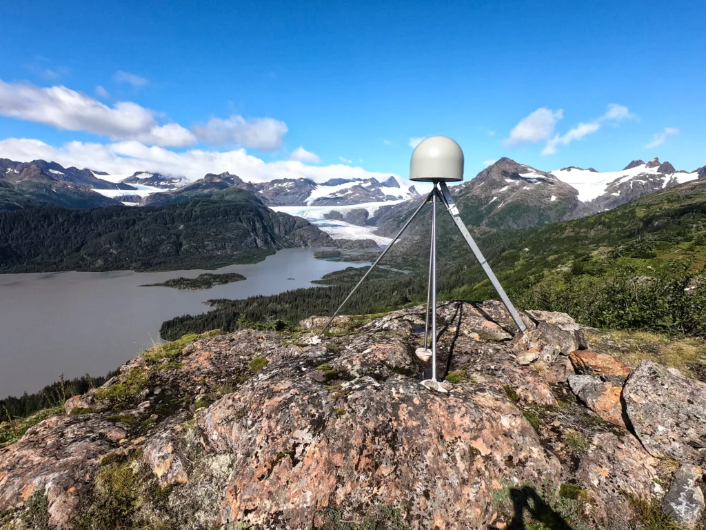
[{"label": "large orange-pink lichen-speckled rock face at bottom centre, before the tripod", "polygon": [[480,385],[438,394],[395,375],[332,392],[287,371],[246,384],[200,420],[241,470],[224,522],[306,528],[330,506],[402,505],[419,528],[482,527],[501,484],[561,473],[522,413]]}]

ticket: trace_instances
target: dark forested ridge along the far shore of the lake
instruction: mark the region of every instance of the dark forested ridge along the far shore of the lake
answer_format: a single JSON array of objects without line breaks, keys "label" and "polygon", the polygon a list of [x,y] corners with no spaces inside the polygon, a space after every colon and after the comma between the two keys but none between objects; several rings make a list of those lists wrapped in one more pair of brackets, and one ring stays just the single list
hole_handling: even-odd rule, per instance
[{"label": "dark forested ridge along the far shore of the lake", "polygon": [[203,268],[295,246],[333,241],[304,219],[271,211],[243,189],[155,208],[0,213],[0,272]]}]

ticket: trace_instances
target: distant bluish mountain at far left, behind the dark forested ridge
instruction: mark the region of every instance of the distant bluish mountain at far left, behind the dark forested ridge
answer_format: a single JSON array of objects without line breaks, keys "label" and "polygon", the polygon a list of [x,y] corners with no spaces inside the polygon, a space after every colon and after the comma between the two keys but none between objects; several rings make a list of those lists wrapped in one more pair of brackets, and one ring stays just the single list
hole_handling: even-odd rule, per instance
[{"label": "distant bluish mountain at far left, behind the dark forested ridge", "polygon": [[[38,162],[20,164],[0,160],[0,211],[35,206],[97,208],[119,204],[119,201],[86,187],[84,184],[98,179],[83,174],[83,170],[73,172],[76,168],[69,168],[62,172],[64,168],[59,165]],[[55,167],[61,167],[61,170]],[[119,189],[112,191],[120,193]]]}]

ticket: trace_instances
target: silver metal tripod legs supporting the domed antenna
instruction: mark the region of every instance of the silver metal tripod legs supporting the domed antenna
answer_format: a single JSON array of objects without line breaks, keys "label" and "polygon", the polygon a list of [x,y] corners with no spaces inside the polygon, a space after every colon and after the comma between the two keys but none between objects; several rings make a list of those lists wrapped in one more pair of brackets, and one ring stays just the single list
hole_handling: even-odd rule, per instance
[{"label": "silver metal tripod legs supporting the domed antenna", "polygon": [[498,278],[496,278],[495,273],[493,273],[493,269],[491,269],[488,261],[483,257],[483,254],[481,252],[481,249],[478,248],[478,245],[476,245],[476,242],[473,240],[473,237],[471,237],[470,232],[468,231],[468,228],[466,228],[466,225],[463,223],[461,220],[461,216],[459,214],[458,208],[456,206],[455,201],[453,200],[453,196],[451,196],[451,192],[448,189],[448,186],[446,185],[446,182],[443,181],[443,179],[429,179],[429,182],[433,184],[433,188],[431,189],[431,192],[426,196],[424,201],[419,205],[419,208],[417,208],[416,211],[412,214],[412,217],[410,217],[405,225],[402,226],[399,232],[397,232],[397,235],[393,238],[392,242],[390,242],[390,245],[388,245],[383,252],[381,252],[380,256],[378,256],[378,259],[375,260],[375,262],[371,265],[370,269],[366,271],[364,276],[360,279],[360,281],[357,283],[357,285],[353,288],[353,290],[350,292],[350,294],[343,300],[340,306],[338,306],[338,309],[335,311],[335,313],[331,316],[331,318],[326,322],[326,325],[323,326],[323,329],[321,330],[321,333],[319,334],[320,336],[323,335],[323,332],[326,331],[328,326],[333,322],[333,319],[337,316],[337,314],[340,312],[342,307],[345,305],[345,303],[349,300],[349,298],[352,297],[353,293],[356,292],[357,288],[360,287],[360,285],[365,281],[365,278],[368,277],[368,275],[375,269],[375,267],[380,263],[381,259],[385,257],[385,254],[388,253],[388,251],[395,245],[395,242],[400,238],[403,232],[407,230],[407,227],[412,223],[414,218],[416,218],[419,215],[419,212],[424,208],[424,206],[427,203],[431,202],[431,245],[429,248],[429,281],[427,283],[427,289],[426,289],[426,319],[424,322],[424,352],[429,351],[429,310],[430,310],[430,305],[433,307],[433,310],[431,311],[431,379],[436,382],[436,203],[441,201],[441,204],[445,206],[446,210],[448,213],[450,213],[450,216],[453,218],[454,223],[456,224],[457,228],[460,230],[461,235],[463,238],[466,240],[468,246],[472,250],[474,256],[478,260],[479,264],[481,264],[481,267],[483,268],[483,271],[486,273],[486,276],[488,276],[488,279],[490,282],[493,284],[493,287],[495,290],[498,292],[498,295],[500,295],[500,298],[503,302],[503,305],[505,305],[505,308],[508,310],[510,313],[510,316],[513,317],[513,320],[515,321],[515,324],[517,324],[517,327],[520,328],[520,331],[522,333],[525,333],[527,331],[527,328],[525,327],[525,323],[522,322],[522,319],[520,318],[520,315],[517,314],[517,310],[515,310],[515,306],[513,305],[513,302],[510,302],[510,298],[508,298],[508,295],[505,293],[505,290],[503,289],[503,286],[500,284],[498,281]]}]

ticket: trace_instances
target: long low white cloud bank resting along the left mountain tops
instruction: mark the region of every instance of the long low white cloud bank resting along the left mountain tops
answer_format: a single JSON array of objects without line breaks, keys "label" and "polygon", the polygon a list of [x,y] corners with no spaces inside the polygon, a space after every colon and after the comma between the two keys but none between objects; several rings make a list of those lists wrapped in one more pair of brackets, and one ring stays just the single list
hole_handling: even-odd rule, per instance
[{"label": "long low white cloud bank resting along the left mountain tops", "polygon": [[[136,171],[160,172],[165,175],[200,179],[206,173],[229,171],[250,182],[267,182],[282,178],[307,178],[325,182],[332,178],[384,180],[390,172],[371,172],[351,165],[307,165],[299,160],[278,160],[266,163],[249,155],[244,148],[231,151],[203,151],[190,149],[170,151],[157,146],[145,146],[138,141],[109,144],[72,141],[61,147],[49,146],[33,139],[6,139],[0,141],[0,158],[22,162],[54,160],[64,166],[90,167],[111,174],[131,174]],[[397,176],[397,175],[395,175]]]}]

